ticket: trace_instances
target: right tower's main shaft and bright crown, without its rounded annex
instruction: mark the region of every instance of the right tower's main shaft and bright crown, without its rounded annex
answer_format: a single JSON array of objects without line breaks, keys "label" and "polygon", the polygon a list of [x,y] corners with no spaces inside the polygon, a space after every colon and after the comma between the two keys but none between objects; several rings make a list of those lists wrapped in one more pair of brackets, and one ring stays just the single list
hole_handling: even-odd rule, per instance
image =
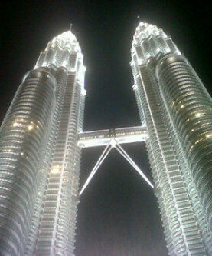
[{"label": "right tower's main shaft and bright crown, without its rounded annex", "polygon": [[[211,233],[189,172],[188,160],[181,149],[178,131],[165,107],[166,100],[163,100],[155,75],[158,59],[169,53],[180,55],[171,38],[156,26],[141,22],[132,42],[133,88],[141,121],[146,122],[148,128],[146,145],[168,254],[210,255]],[[178,74],[178,78],[180,76]],[[171,91],[172,84],[169,88]],[[174,121],[177,120],[180,122],[181,118],[174,117]],[[189,161],[194,165],[192,159]]]}]

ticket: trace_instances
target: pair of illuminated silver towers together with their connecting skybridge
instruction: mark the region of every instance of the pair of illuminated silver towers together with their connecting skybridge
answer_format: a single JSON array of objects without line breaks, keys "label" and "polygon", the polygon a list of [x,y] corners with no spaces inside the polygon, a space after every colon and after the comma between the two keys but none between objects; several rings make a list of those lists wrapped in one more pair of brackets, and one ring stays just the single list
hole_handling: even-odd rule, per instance
[{"label": "pair of illuminated silver towers together with their connecting skybridge", "polygon": [[131,141],[147,147],[168,254],[212,255],[210,95],[161,28],[140,22],[131,52],[140,127],[83,132],[86,68],[70,31],[24,76],[0,130],[1,255],[73,255],[81,148],[106,145],[86,185],[114,147],[146,179],[120,145]]}]

